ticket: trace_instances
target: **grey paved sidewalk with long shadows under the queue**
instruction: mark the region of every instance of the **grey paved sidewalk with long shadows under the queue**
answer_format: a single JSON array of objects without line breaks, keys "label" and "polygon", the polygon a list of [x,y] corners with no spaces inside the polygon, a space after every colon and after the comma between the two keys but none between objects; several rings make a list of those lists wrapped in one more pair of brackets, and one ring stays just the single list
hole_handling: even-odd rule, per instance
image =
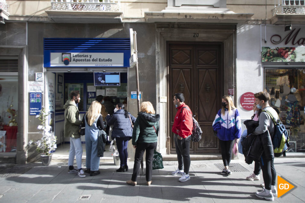
[{"label": "grey paved sidewalk with long shadows under the queue", "polygon": [[[80,178],[77,173],[68,174],[66,163],[0,165],[0,202],[266,202],[254,195],[261,190],[262,175],[260,181],[246,180],[246,176],[253,173],[254,164],[248,165],[242,159],[231,161],[235,171],[230,176],[220,174],[222,160],[192,161],[191,179],[183,183],[178,182],[180,176],[170,175],[177,169],[178,162],[166,161],[163,164],[164,169],[153,170],[151,186],[146,186],[145,176],[138,176],[137,186],[126,184],[126,180],[131,179],[133,162],[128,163],[126,173],[116,173],[118,166],[101,162],[101,174],[85,178]],[[275,197],[274,202],[305,202],[305,158],[275,158],[274,164],[277,175],[284,176],[297,187],[281,198]],[[17,173],[23,174],[8,177]]]}]

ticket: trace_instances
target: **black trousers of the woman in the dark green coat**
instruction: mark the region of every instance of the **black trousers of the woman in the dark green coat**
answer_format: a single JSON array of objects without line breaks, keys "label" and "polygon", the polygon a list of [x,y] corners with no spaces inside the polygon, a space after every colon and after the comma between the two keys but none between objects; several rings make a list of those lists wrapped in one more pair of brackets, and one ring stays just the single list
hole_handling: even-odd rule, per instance
[{"label": "black trousers of the woman in the dark green coat", "polygon": [[141,160],[146,150],[146,181],[152,180],[152,158],[153,152],[155,151],[157,142],[154,143],[137,143],[137,148],[135,148],[135,163],[133,168],[133,173],[131,176],[132,181],[137,181],[138,173],[140,170]]}]

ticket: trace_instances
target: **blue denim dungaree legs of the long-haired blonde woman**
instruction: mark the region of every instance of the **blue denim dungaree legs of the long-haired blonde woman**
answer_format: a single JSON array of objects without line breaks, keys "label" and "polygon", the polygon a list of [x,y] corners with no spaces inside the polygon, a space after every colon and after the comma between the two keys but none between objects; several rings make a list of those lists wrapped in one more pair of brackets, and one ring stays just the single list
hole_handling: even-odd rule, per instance
[{"label": "blue denim dungaree legs of the long-haired blonde woman", "polygon": [[97,156],[97,134],[86,134],[86,168],[91,171],[99,170],[100,158]]}]

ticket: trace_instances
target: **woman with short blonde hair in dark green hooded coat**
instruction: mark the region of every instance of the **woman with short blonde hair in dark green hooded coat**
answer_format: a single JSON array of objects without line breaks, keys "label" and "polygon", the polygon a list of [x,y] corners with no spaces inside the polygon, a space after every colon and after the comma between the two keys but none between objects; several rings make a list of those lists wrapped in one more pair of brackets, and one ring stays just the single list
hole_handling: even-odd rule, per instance
[{"label": "woman with short blonde hair in dark green hooded coat", "polygon": [[159,132],[160,115],[155,114],[152,103],[143,102],[141,112],[135,120],[132,131],[132,145],[135,148],[135,163],[131,180],[127,180],[129,185],[137,185],[137,177],[140,170],[141,159],[146,150],[146,184],[152,183],[152,158],[156,149]]}]

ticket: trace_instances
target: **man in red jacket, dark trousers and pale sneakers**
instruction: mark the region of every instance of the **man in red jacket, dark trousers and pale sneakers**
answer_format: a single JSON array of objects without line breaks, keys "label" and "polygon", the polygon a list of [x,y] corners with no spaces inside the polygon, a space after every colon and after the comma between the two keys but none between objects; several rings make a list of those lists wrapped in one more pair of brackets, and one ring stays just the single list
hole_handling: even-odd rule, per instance
[{"label": "man in red jacket, dark trousers and pale sneakers", "polygon": [[184,103],[184,100],[184,95],[182,93],[176,93],[174,95],[173,102],[177,108],[177,113],[174,119],[172,132],[174,133],[178,169],[172,172],[172,175],[182,175],[182,177],[179,178],[180,182],[185,182],[190,179],[188,171],[191,165],[190,144],[193,128],[192,111],[188,105]]}]

